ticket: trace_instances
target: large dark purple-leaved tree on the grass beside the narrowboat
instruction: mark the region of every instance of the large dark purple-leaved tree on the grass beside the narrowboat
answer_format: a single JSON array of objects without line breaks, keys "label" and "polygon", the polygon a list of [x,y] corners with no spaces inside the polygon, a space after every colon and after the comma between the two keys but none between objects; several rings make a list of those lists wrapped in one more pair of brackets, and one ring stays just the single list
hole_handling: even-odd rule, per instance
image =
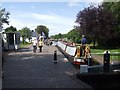
[{"label": "large dark purple-leaved tree on the grass beside the narrowboat", "polygon": [[107,41],[113,37],[114,17],[113,14],[100,5],[94,5],[85,8],[77,14],[76,23],[80,25],[82,34],[90,38],[94,46],[107,45]]}]

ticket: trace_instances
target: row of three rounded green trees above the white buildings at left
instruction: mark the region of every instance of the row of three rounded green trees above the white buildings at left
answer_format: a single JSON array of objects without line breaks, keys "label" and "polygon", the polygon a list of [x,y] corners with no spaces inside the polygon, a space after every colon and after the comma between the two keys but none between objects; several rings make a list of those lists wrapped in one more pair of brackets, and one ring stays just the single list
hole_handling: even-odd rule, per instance
[{"label": "row of three rounded green trees above the white buildings at left", "polygon": [[[28,27],[23,27],[20,30],[17,30],[15,27],[10,26],[8,28],[6,28],[4,30],[4,33],[12,33],[12,32],[19,32],[20,36],[22,37],[22,43],[25,44],[25,39],[28,38],[29,41],[30,39],[32,39],[32,32],[34,32],[34,30],[30,30],[30,28]],[[46,38],[48,38],[48,34],[49,34],[49,29],[44,26],[44,25],[38,25],[35,29],[35,31],[37,32],[38,36],[41,36],[42,33],[44,33],[44,35],[46,36]]]}]

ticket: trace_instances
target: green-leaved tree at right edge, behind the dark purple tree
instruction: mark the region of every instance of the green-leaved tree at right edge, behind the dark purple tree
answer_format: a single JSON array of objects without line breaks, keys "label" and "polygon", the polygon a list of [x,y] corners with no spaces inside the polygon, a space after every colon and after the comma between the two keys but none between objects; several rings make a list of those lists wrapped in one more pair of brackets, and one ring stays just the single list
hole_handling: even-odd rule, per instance
[{"label": "green-leaved tree at right edge, behind the dark purple tree", "polygon": [[103,2],[103,8],[112,12],[116,20],[116,25],[113,27],[116,34],[109,42],[114,41],[114,45],[120,46],[118,42],[120,40],[120,2]]}]

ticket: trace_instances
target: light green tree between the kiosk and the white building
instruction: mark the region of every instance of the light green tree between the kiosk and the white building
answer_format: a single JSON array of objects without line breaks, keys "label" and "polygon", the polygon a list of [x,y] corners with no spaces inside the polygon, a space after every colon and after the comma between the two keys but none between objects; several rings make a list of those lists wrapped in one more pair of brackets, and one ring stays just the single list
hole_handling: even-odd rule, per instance
[{"label": "light green tree between the kiosk and the white building", "polygon": [[25,39],[28,38],[30,39],[31,38],[31,31],[28,27],[24,27],[22,28],[21,30],[19,30],[20,32],[20,35],[21,37],[23,38],[23,44],[25,44]]}]

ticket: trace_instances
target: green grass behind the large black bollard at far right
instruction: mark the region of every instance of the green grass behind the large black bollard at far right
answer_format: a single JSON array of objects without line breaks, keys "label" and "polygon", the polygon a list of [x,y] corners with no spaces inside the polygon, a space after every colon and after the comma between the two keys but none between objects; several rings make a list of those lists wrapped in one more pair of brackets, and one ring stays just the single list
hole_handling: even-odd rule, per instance
[{"label": "green grass behind the large black bollard at far right", "polygon": [[[106,51],[106,49],[91,49],[91,53],[104,53],[104,51]],[[111,54],[110,55],[110,59],[111,60],[119,60],[120,61],[120,48],[119,49],[109,49],[108,51],[110,51],[110,53],[118,52],[119,54],[115,54],[115,55]]]}]

